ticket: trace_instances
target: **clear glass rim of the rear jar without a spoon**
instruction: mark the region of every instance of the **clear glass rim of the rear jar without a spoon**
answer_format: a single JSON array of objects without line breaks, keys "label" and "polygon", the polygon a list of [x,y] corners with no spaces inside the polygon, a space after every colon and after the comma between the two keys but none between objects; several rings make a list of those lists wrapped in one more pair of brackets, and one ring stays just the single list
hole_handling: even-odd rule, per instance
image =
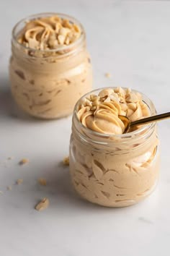
[{"label": "clear glass rim of the rear jar without a spoon", "polygon": [[[39,50],[39,49],[37,50],[35,48],[30,48],[30,47],[24,46],[22,43],[18,42],[18,40],[17,40],[18,33],[16,33],[16,30],[19,27],[19,25],[21,25],[23,22],[25,22],[27,20],[34,20],[35,18],[40,18],[40,17],[50,17],[53,15],[56,15],[61,18],[66,18],[67,20],[69,20],[71,22],[75,22],[76,25],[79,25],[79,27],[81,28],[81,36],[75,42],[69,44],[68,46],[58,46],[57,49],[48,49],[48,50]],[[17,24],[14,25],[14,27],[12,29],[12,40],[14,41],[14,43],[17,43],[17,46],[22,47],[24,50],[27,50],[27,51],[37,51],[40,53],[53,53],[53,52],[58,52],[58,51],[65,51],[65,50],[68,50],[69,48],[72,48],[72,47],[74,48],[74,47],[78,46],[85,39],[86,39],[86,33],[84,30],[84,26],[81,24],[81,22],[79,22],[79,20],[76,20],[76,18],[74,18],[68,14],[63,14],[63,13],[59,13],[59,12],[42,12],[42,13],[38,13],[38,14],[29,15],[27,17],[24,17],[22,20],[19,20],[19,22],[17,22]]]}]

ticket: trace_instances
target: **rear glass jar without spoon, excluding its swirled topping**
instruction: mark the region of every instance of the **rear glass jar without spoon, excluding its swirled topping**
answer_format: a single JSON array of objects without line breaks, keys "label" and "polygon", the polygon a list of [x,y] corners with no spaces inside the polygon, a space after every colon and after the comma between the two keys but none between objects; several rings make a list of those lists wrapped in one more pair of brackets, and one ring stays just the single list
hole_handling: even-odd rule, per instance
[{"label": "rear glass jar without spoon, excluding its swirled topping", "polygon": [[[68,46],[51,50],[28,48],[17,41],[27,20],[58,17],[76,23],[81,36]],[[21,20],[12,31],[9,75],[14,100],[28,114],[43,119],[68,116],[78,99],[91,90],[91,59],[84,27],[65,14],[42,13]]]}]

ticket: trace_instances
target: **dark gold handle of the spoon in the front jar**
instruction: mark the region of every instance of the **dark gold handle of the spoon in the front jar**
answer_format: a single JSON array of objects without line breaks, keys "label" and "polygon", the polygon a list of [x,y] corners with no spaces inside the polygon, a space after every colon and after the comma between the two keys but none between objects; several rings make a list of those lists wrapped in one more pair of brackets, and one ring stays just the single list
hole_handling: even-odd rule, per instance
[{"label": "dark gold handle of the spoon in the front jar", "polygon": [[139,125],[139,124],[148,124],[148,123],[152,123],[153,121],[160,121],[162,119],[169,119],[169,118],[170,118],[170,112],[165,113],[165,114],[156,115],[156,116],[149,116],[144,119],[132,121],[130,123],[130,127],[134,127],[135,125]]}]

